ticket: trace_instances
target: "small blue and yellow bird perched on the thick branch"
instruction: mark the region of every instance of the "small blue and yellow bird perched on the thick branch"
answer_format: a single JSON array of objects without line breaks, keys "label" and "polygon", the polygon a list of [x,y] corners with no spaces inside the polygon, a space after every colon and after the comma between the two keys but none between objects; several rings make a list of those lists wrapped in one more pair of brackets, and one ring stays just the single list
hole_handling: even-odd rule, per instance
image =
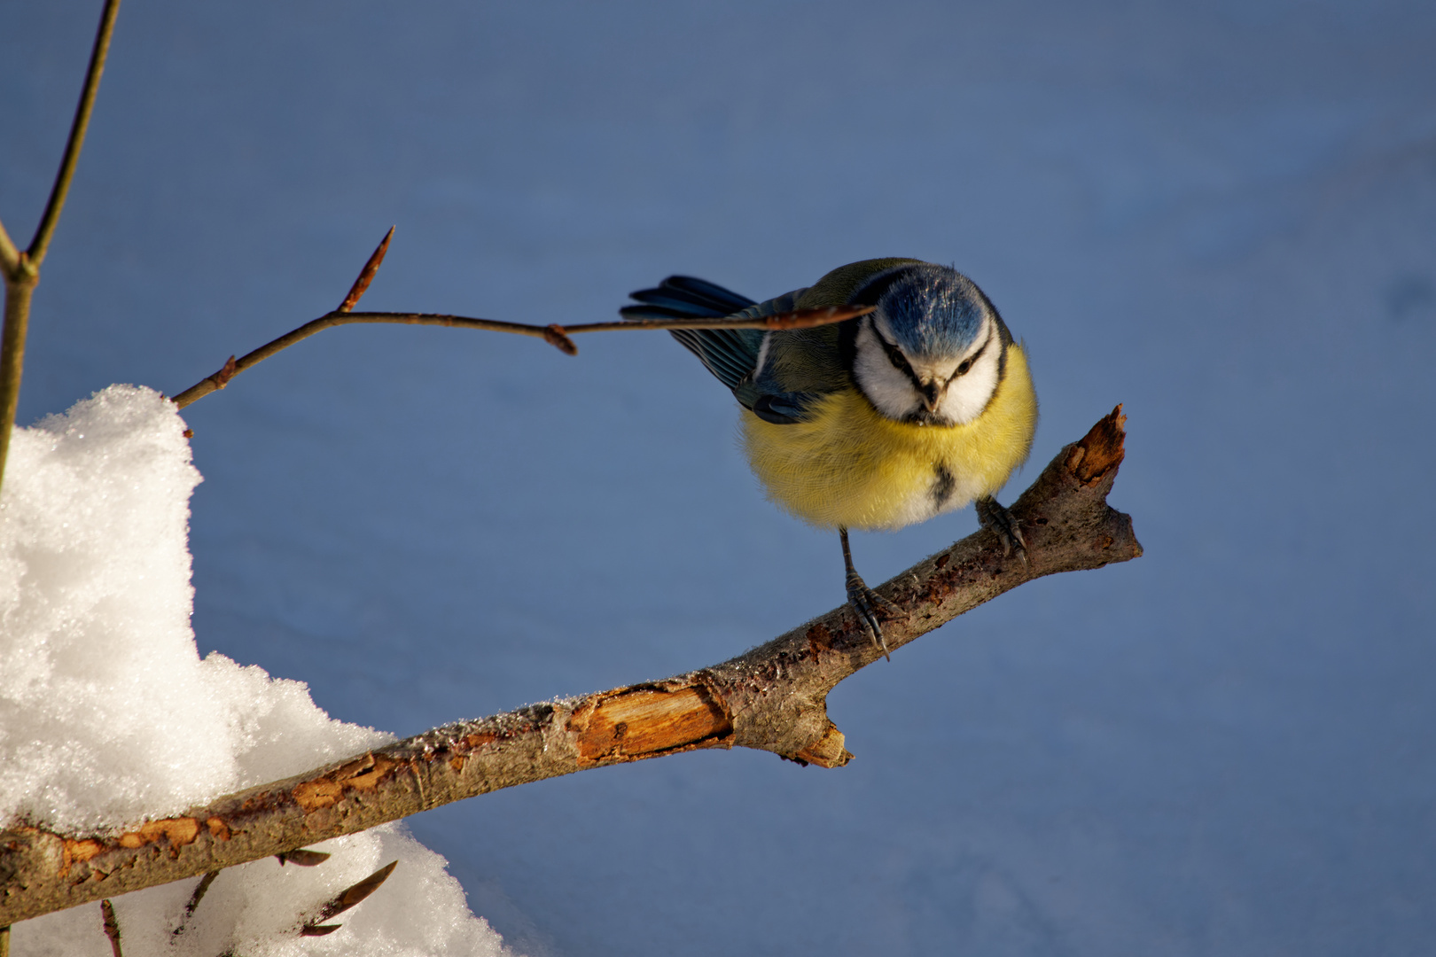
[{"label": "small blue and yellow bird perched on the thick branch", "polygon": [[847,601],[885,656],[882,620],[895,608],[857,574],[849,529],[898,529],[976,502],[981,525],[1027,560],[995,495],[1032,448],[1037,392],[1022,346],[956,268],[862,260],[763,303],[671,275],[630,298],[619,310],[628,320],[873,307],[811,329],[671,331],[732,390],[741,445],[768,499],[837,531]]}]

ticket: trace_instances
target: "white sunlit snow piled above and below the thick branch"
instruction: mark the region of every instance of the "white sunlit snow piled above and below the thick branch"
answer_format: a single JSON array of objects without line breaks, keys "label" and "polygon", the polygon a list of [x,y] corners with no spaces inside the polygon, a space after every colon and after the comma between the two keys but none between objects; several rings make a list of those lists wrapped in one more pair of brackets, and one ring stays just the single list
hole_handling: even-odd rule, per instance
[{"label": "white sunlit snow piled above and below the thick branch", "polygon": [[[0,826],[113,831],[393,740],[332,720],[302,682],[200,659],[187,541],[200,473],[184,428],[159,393],[111,386],[13,433],[0,495]],[[116,898],[125,954],[507,953],[444,858],[402,826],[314,849],[333,857],[223,871],[188,921],[198,878]],[[297,935],[393,859],[378,892],[330,921],[342,930]],[[17,924],[11,946],[17,957],[109,954],[98,904]]]}]

